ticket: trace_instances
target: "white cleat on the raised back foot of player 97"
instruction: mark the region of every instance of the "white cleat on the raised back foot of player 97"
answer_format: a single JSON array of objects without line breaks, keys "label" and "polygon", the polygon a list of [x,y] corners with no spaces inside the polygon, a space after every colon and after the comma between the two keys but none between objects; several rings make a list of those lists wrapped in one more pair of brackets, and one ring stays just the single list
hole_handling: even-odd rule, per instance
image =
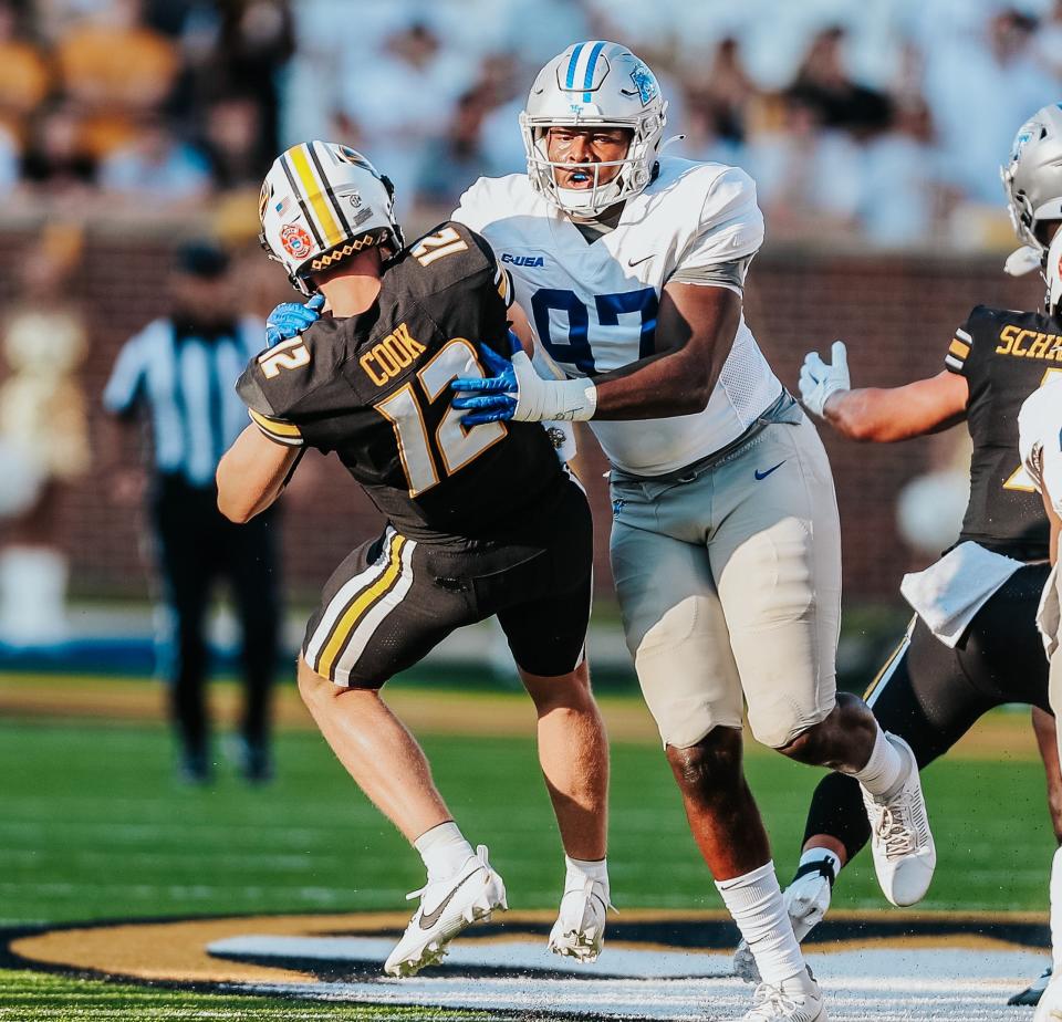
[{"label": "white cleat on the raised back foot of player 97", "polygon": [[863,804],[871,821],[874,872],[882,893],[899,907],[920,901],[929,889],[937,849],[929,831],[918,763],[910,745],[895,734],[886,740],[907,760],[907,771],[886,795],[872,795],[863,785]]}]

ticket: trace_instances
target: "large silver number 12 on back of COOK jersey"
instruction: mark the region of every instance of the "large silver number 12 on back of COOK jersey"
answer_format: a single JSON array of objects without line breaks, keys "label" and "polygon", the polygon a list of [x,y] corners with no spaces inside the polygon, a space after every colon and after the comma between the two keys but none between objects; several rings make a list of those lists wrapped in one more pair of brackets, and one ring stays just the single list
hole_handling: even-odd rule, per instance
[{"label": "large silver number 12 on back of COOK jersey", "polygon": [[464,413],[447,408],[436,427],[434,442],[429,439],[421,393],[428,405],[441,397],[449,399],[450,380],[459,376],[483,376],[476,348],[464,337],[447,342],[417,372],[419,388],[409,380],[386,400],[373,406],[395,430],[410,497],[417,497],[437,486],[440,479],[459,472],[508,434],[502,423],[485,423],[471,428],[462,426]]}]

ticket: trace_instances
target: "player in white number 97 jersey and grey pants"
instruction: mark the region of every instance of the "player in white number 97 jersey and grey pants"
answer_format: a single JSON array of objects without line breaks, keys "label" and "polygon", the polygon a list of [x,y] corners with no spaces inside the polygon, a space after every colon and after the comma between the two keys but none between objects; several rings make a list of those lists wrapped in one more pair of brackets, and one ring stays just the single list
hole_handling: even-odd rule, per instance
[{"label": "player in white number 97 jersey and grey pants", "polygon": [[[754,186],[733,167],[662,156],[666,107],[617,43],[570,46],[539,74],[520,118],[528,174],[480,179],[454,219],[490,241],[568,378],[540,378],[520,351],[512,363],[485,353],[496,377],[455,380],[454,404],[467,425],[590,420],[612,463],[627,644],[763,980],[745,1018],[821,1022],[742,773],[742,695],[759,741],[858,779],[889,900],[920,897],[935,851],[909,749],[836,692],[830,466],[741,311],[763,238]],[[886,843],[897,826],[904,841]]]}]

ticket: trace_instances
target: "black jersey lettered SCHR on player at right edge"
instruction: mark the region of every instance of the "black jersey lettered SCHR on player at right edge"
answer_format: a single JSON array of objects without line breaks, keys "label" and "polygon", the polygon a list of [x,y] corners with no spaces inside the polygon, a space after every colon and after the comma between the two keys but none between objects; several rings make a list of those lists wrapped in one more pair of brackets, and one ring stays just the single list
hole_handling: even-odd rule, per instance
[{"label": "black jersey lettered SCHR on player at right edge", "polygon": [[1048,556],[1043,502],[1021,467],[1018,411],[1062,372],[1062,322],[1035,312],[978,305],[955,332],[945,366],[967,378],[974,439],[970,502],[959,540],[1021,561]]}]

